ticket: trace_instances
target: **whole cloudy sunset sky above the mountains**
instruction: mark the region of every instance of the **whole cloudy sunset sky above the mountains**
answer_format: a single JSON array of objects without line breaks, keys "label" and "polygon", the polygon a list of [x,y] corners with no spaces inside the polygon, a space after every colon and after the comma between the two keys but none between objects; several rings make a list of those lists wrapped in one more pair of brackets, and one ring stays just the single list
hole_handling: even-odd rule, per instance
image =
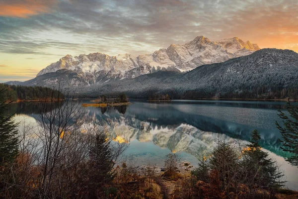
[{"label": "whole cloudy sunset sky above the mountains", "polygon": [[298,52],[298,0],[0,0],[0,82],[67,54],[139,55],[201,35]]}]

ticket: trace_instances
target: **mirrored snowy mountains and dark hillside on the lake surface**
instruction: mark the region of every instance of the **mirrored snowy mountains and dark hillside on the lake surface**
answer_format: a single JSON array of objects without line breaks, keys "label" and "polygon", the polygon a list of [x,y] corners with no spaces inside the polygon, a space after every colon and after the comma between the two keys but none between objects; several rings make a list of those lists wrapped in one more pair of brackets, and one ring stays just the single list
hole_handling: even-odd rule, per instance
[{"label": "mirrored snowy mountains and dark hillside on the lake surface", "polygon": [[[285,102],[274,101],[173,100],[151,103],[133,100],[129,106],[87,107],[81,119],[86,124],[109,126],[114,138],[122,136],[129,141],[135,138],[192,155],[200,153],[195,150],[195,145],[200,148],[203,143],[210,143],[207,137],[214,140],[216,133],[222,139],[249,141],[250,132],[258,129],[263,148],[288,157],[289,154],[280,149],[278,139],[281,135],[275,127],[275,121],[280,121],[277,109],[283,109],[284,105]],[[28,114],[39,120],[37,106],[38,103],[11,104],[8,111]]]}]

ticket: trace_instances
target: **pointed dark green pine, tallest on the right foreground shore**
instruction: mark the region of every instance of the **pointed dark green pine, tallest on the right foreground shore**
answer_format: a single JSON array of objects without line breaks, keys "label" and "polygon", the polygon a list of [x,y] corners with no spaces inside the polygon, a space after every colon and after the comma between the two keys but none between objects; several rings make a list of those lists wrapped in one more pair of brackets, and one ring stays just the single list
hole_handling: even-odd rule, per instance
[{"label": "pointed dark green pine, tallest on the right foreground shore", "polygon": [[276,161],[269,158],[269,154],[262,151],[259,145],[261,136],[258,130],[251,133],[251,143],[243,152],[243,164],[247,172],[247,183],[251,186],[273,190],[282,187],[285,182],[281,181],[284,176],[279,172]]}]

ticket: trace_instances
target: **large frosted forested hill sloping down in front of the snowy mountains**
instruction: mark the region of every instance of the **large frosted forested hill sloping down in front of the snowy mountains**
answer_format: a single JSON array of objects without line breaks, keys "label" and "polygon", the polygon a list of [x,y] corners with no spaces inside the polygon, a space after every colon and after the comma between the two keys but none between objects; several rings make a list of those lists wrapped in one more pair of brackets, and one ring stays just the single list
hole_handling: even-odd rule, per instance
[{"label": "large frosted forested hill sloping down in front of the snowy mountains", "polygon": [[178,74],[157,72],[134,79],[110,81],[77,89],[80,95],[148,97],[152,93],[174,98],[297,99],[298,53],[262,49],[251,55],[197,67]]}]

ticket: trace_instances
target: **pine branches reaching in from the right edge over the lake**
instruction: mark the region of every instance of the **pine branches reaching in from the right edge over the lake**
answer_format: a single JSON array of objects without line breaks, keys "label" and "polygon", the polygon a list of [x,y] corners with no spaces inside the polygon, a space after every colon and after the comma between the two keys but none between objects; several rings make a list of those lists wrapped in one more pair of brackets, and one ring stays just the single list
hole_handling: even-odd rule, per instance
[{"label": "pine branches reaching in from the right edge over the lake", "polygon": [[298,166],[298,106],[287,103],[286,108],[291,117],[279,110],[279,116],[283,119],[283,126],[276,121],[283,140],[281,140],[284,151],[290,152],[292,156],[286,160],[294,166]]}]

